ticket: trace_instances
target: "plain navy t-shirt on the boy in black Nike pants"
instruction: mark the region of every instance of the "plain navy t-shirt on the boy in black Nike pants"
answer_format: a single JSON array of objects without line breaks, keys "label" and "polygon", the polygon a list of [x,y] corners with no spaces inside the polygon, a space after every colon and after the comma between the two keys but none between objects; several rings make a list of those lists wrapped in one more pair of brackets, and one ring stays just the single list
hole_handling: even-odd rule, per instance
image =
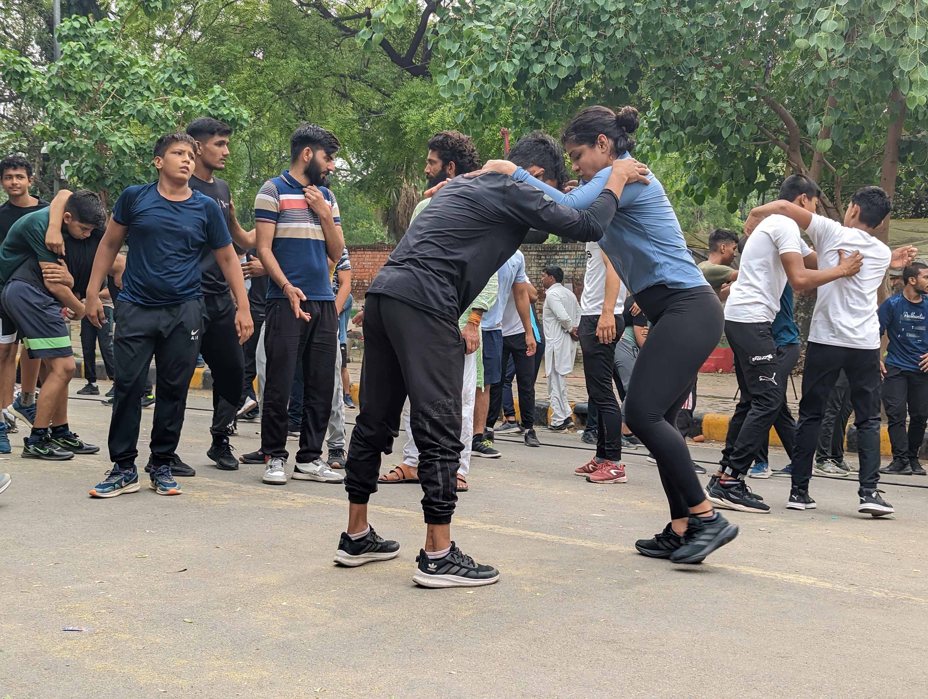
[{"label": "plain navy t-shirt on the boy in black Nike pants", "polygon": [[184,201],[170,201],[157,182],[135,185],[116,201],[113,220],[129,229],[119,297],[130,304],[183,304],[202,296],[203,248],[232,244],[219,204],[196,189]]}]

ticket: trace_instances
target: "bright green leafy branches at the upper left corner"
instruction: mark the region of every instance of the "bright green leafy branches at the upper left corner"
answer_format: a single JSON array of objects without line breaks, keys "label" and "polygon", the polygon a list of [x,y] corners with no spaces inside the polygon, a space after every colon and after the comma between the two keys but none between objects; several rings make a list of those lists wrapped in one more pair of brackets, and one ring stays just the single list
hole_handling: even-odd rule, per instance
[{"label": "bright green leafy branches at the upper left corner", "polygon": [[[165,3],[136,9],[154,12]],[[58,27],[61,59],[33,64],[0,49],[4,82],[41,110],[32,136],[45,143],[51,162],[67,163],[67,176],[96,189],[104,201],[151,179],[152,144],[192,116],[211,113],[234,126],[247,114],[226,91],[198,89],[187,58],[176,48],[149,57],[122,38],[126,19],[64,19]],[[25,137],[25,135],[20,135]]]}]

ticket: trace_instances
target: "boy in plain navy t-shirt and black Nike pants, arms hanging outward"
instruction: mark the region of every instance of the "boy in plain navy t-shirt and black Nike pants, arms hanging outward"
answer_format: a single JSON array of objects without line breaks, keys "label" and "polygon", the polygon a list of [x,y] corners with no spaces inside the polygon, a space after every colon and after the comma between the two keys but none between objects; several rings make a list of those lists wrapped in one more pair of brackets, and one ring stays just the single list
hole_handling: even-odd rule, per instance
[{"label": "boy in plain navy t-shirt and black Nike pants, arms hanging outward", "polygon": [[112,498],[138,490],[135,457],[142,394],[152,356],[157,367],[155,418],[151,430],[150,487],[159,495],[179,495],[171,466],[184,426],[187,389],[200,352],[203,299],[200,257],[205,246],[216,261],[238,303],[238,342],[253,325],[245,279],[232,247],[219,205],[189,187],[196,142],[187,134],[161,136],[155,144],[158,181],[122,192],[106,235],[100,241],[87,285],[86,313],[97,327],[106,322],[99,289],[116,254],[128,239],[122,291],[117,302],[119,323],[113,336],[116,378],[110,421],[113,467],[90,495]]}]

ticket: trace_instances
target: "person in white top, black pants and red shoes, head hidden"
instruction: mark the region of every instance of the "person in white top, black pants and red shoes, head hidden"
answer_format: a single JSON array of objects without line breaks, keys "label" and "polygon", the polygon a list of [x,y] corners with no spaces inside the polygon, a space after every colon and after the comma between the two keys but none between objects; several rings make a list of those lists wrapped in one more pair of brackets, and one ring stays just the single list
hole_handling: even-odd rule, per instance
[{"label": "person in white top, black pants and red shoes, head hidden", "polygon": [[625,322],[625,286],[599,243],[586,243],[586,274],[580,297],[577,335],[583,352],[586,395],[597,410],[596,456],[574,470],[591,483],[625,483],[622,464],[622,412],[612,391],[615,344]]}]

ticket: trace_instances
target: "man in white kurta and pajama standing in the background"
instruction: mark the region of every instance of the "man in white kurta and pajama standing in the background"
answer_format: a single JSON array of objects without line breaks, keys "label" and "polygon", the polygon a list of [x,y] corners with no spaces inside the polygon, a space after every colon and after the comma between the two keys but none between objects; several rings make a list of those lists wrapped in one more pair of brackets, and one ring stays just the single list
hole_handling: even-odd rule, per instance
[{"label": "man in white kurta and pajama standing in the background", "polygon": [[546,267],[541,275],[545,287],[545,369],[548,372],[548,400],[551,404],[551,429],[572,427],[571,405],[567,402],[567,375],[574,370],[577,353],[576,329],[580,322],[580,304],[574,291],[561,283],[561,267]]}]

